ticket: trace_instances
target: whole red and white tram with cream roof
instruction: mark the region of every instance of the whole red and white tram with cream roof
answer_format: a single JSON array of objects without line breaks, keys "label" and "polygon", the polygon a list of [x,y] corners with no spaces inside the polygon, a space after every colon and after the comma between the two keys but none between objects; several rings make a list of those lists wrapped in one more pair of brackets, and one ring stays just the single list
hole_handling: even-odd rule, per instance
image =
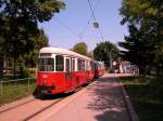
[{"label": "whole red and white tram with cream roof", "polygon": [[42,48],[36,90],[42,94],[71,92],[103,73],[101,62],[61,48]]}]

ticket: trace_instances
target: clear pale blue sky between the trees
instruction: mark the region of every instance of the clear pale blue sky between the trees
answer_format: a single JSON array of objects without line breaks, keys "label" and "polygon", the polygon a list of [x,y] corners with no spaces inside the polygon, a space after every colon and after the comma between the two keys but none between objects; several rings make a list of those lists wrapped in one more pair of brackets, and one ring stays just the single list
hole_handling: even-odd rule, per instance
[{"label": "clear pale blue sky between the trees", "polygon": [[99,29],[92,26],[95,19],[88,0],[64,0],[66,6],[60,13],[39,26],[45,29],[51,46],[72,49],[78,42],[86,42],[88,50],[96,48],[97,43],[110,41],[117,43],[124,41],[127,27],[120,23],[118,14],[122,0],[90,0]]}]

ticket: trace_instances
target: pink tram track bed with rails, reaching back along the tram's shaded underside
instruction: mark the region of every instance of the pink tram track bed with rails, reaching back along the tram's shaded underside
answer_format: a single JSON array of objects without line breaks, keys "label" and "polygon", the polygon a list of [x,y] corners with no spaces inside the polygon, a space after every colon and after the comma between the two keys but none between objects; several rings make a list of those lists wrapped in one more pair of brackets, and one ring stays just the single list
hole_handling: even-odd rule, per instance
[{"label": "pink tram track bed with rails, reaching back along the tram's shaded underside", "polygon": [[[78,88],[78,90],[75,91],[75,94],[80,92],[83,89],[85,89],[85,86]],[[37,115],[39,116],[43,111],[49,110],[51,107],[55,106],[61,100],[70,98],[70,96],[74,94],[71,92],[66,93],[65,95],[47,95],[46,97],[43,96],[38,98],[29,97],[25,100],[21,100],[16,105],[7,105],[4,109],[0,110],[0,121],[29,121],[32,119],[35,119]]]}]

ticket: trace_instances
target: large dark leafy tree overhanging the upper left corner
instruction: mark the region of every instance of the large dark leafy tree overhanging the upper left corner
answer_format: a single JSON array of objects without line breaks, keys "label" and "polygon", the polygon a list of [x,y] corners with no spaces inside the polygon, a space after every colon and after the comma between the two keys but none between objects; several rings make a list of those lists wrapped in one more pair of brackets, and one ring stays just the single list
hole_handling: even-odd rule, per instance
[{"label": "large dark leafy tree overhanging the upper left corner", "polygon": [[[29,53],[35,48],[35,37],[39,33],[38,23],[50,21],[54,13],[64,9],[58,0],[1,0],[0,21],[5,24],[4,41],[1,48],[15,62],[20,55]],[[5,46],[5,48],[4,48]],[[8,48],[7,48],[8,46]]]}]

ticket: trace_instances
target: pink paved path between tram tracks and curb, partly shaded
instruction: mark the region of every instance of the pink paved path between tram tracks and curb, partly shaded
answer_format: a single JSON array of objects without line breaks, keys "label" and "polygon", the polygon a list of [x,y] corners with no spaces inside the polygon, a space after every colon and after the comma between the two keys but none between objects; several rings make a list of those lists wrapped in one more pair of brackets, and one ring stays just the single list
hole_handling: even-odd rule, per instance
[{"label": "pink paved path between tram tracks and curb, partly shaded", "polygon": [[47,121],[129,121],[129,116],[120,83],[104,75]]}]

